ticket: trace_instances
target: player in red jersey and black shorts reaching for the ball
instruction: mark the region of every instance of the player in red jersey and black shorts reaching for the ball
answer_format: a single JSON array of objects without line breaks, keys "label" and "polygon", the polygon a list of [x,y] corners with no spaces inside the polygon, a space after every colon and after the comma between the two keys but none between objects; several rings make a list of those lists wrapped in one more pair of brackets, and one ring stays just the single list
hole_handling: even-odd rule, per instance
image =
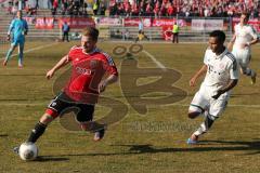
[{"label": "player in red jersey and black shorts reaching for the ball", "polygon": [[[82,31],[81,45],[73,46],[68,54],[47,72],[47,79],[51,79],[61,67],[69,63],[73,67],[69,81],[63,91],[52,99],[44,115],[32,129],[27,142],[36,143],[44,133],[47,125],[69,107],[77,109],[76,118],[81,129],[91,129],[94,105],[99,94],[118,79],[117,68],[112,57],[96,48],[98,38],[99,30],[87,27]],[[105,74],[107,76],[104,76]],[[102,139],[104,133],[104,125],[94,131],[94,141]]]}]

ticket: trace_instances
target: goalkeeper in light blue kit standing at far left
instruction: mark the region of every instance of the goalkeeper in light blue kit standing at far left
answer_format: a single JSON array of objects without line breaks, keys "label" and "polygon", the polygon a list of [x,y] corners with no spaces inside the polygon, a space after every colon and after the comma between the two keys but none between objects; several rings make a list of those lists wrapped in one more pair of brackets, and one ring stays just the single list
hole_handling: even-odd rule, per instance
[{"label": "goalkeeper in light blue kit standing at far left", "polygon": [[18,67],[23,67],[24,43],[25,43],[25,35],[27,35],[27,31],[28,31],[27,22],[22,18],[22,11],[18,11],[16,18],[14,18],[11,22],[9,27],[8,40],[11,39],[10,35],[12,35],[12,43],[3,61],[3,66],[8,65],[8,62],[14,49],[18,45]]}]

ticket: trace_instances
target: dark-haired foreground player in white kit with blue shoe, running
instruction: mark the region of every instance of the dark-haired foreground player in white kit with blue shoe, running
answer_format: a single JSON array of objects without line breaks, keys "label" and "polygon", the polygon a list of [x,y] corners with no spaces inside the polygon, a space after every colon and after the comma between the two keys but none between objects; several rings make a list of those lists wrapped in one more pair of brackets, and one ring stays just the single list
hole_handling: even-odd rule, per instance
[{"label": "dark-haired foreground player in white kit with blue shoe, running", "polygon": [[196,144],[198,137],[210,129],[225,109],[231,90],[237,84],[237,62],[224,46],[224,41],[225,34],[221,30],[209,35],[209,48],[205,52],[204,65],[190,80],[190,85],[194,86],[197,79],[206,74],[187,114],[192,119],[204,114],[205,121],[191,135],[187,144]]}]

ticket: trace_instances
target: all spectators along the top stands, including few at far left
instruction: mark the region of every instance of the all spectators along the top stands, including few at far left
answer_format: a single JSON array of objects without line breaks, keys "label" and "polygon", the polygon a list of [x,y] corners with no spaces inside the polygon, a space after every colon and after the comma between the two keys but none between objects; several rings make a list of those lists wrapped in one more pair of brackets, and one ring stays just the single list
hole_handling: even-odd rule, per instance
[{"label": "all spectators along the top stands, including few at far left", "polygon": [[[10,13],[15,13],[18,0],[10,0]],[[36,14],[39,0],[25,0],[23,5],[27,14]],[[227,17],[238,16],[243,11],[259,17],[260,0],[46,0],[46,5],[53,15],[93,15],[110,16],[200,16]]]}]

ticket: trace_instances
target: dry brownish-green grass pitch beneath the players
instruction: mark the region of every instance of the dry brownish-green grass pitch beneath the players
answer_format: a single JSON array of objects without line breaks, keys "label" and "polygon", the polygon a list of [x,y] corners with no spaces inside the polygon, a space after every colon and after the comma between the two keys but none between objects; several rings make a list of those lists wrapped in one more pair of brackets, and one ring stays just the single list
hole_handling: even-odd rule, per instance
[{"label": "dry brownish-green grass pitch beneath the players", "polygon": [[[1,173],[257,173],[260,172],[260,80],[255,85],[240,76],[229,106],[216,121],[209,133],[196,146],[187,146],[186,138],[199,125],[203,118],[190,120],[188,104],[198,90],[188,86],[188,80],[202,66],[206,43],[165,44],[143,43],[144,51],[153,55],[166,68],[181,72],[181,78],[169,82],[184,90],[187,96],[172,104],[147,106],[142,115],[123,96],[120,81],[109,85],[104,96],[120,101],[127,106],[127,115],[108,127],[101,142],[93,142],[93,134],[65,130],[58,119],[50,124],[37,142],[39,158],[22,161],[12,148],[23,143],[53,97],[52,85],[63,74],[58,71],[51,80],[44,75],[69,48],[77,42],[27,42],[25,50],[44,46],[25,53],[25,67],[17,67],[13,57],[8,67],[0,67],[0,172]],[[50,45],[50,46],[47,46]],[[130,43],[101,42],[99,46],[113,55],[117,45]],[[4,56],[2,53],[1,56]],[[127,55],[113,55],[119,72]],[[132,55],[138,68],[158,67],[141,52]],[[132,59],[132,61],[134,61]],[[131,61],[131,59],[128,59]],[[260,74],[260,45],[252,48],[251,67]],[[129,67],[130,68],[130,67]],[[131,69],[125,74],[127,82],[133,82]],[[135,74],[139,76],[139,74]],[[156,82],[158,74],[140,78],[139,85]],[[166,83],[161,83],[161,89]],[[131,90],[130,90],[131,92]],[[130,95],[140,95],[133,90]],[[161,92],[144,95],[150,101],[165,97]],[[95,119],[102,118],[109,107],[96,106]],[[120,111],[120,110],[117,110]],[[118,112],[120,114],[120,112]]]}]

